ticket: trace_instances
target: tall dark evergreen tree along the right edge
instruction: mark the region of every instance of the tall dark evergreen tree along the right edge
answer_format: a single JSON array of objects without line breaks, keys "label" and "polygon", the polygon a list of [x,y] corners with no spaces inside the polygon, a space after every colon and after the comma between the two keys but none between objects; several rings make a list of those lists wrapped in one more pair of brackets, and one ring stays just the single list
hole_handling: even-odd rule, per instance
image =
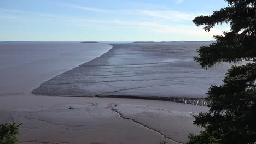
[{"label": "tall dark evergreen tree along the right edge", "polygon": [[232,66],[223,85],[211,86],[207,92],[206,113],[194,115],[194,124],[204,128],[200,135],[189,135],[192,143],[255,143],[256,142],[256,1],[226,0],[228,7],[212,15],[196,17],[197,26],[210,31],[215,25],[229,23],[230,31],[216,35],[216,43],[197,49],[202,68],[216,63],[246,64]]}]

